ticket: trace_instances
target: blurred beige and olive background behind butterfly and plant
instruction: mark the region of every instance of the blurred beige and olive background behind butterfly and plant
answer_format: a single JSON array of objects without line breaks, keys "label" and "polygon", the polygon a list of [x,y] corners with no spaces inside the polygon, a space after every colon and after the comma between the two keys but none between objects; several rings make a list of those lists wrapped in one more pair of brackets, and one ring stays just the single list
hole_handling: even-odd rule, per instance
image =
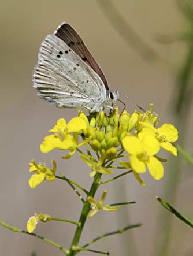
[{"label": "blurred beige and olive background behind butterfly and plant", "polygon": [[[190,1],[182,1],[190,2]],[[79,181],[87,188],[91,185],[89,170],[78,155],[68,161],[61,152],[40,153],[39,145],[58,118],[69,120],[76,110],[57,109],[36,95],[32,88],[32,71],[37,61],[40,43],[62,21],[68,21],[79,32],[92,54],[101,65],[109,87],[118,88],[140,106],[148,109],[154,103],[162,123],[181,127],[181,144],[192,150],[192,110],[185,94],[183,111],[176,101],[184,80],[183,72],[188,62],[190,42],[183,31],[190,29],[190,19],[180,3],[164,1],[3,1],[1,3],[1,179],[0,219],[10,225],[25,229],[34,213],[48,213],[53,217],[78,221],[81,202],[69,185],[61,180],[44,181],[31,190],[28,162],[34,158],[51,166],[58,162],[58,174]],[[185,8],[184,8],[185,9]],[[180,34],[181,33],[181,34]],[[181,36],[181,37],[180,37]],[[187,68],[187,66],[186,66]],[[190,88],[192,71],[188,69],[186,86]],[[186,73],[187,74],[187,73]],[[190,78],[190,79],[189,79]],[[186,81],[186,80],[185,80]],[[190,90],[191,92],[191,90]],[[127,110],[135,106],[124,97]],[[180,101],[180,100],[179,100]],[[181,118],[181,119],[180,119]],[[185,134],[184,134],[185,133]],[[164,197],[186,216],[193,214],[192,167],[179,157],[163,153],[168,162],[160,181],[149,173],[142,176],[142,187],[130,175],[110,183],[106,202],[136,201],[136,205],[123,206],[118,212],[99,212],[88,220],[81,244],[95,236],[114,231],[128,224],[142,223],[142,227],[122,235],[110,236],[95,243],[92,248],[110,251],[110,255],[193,255],[192,230],[156,201]],[[175,164],[176,163],[176,164]],[[179,168],[180,166],[180,168]],[[167,220],[170,220],[167,222]],[[36,233],[70,246],[75,226],[65,222],[40,223]],[[166,239],[165,239],[166,238]],[[62,252],[32,236],[14,233],[0,226],[0,255],[61,255]],[[80,255],[92,255],[89,252]],[[93,254],[94,255],[94,254]]]}]

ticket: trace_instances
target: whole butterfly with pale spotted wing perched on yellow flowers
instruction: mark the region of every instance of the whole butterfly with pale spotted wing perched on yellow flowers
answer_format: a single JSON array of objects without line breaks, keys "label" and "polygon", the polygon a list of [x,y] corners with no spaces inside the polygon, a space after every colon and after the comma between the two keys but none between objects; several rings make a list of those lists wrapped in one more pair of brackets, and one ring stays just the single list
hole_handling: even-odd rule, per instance
[{"label": "whole butterfly with pale spotted wing perched on yellow flowers", "polygon": [[112,109],[118,91],[109,91],[101,68],[68,23],[43,40],[34,68],[33,86],[40,98],[57,107],[84,107],[90,112]]}]

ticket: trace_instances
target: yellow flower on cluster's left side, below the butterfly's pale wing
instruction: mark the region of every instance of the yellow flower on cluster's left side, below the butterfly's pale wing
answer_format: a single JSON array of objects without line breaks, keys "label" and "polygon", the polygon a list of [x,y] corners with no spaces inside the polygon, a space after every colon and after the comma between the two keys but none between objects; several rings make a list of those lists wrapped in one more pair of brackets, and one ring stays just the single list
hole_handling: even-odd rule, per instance
[{"label": "yellow flower on cluster's left side, below the butterfly's pale wing", "polygon": [[[48,153],[53,149],[70,150],[70,153],[66,158],[72,157],[75,154],[76,148],[83,146],[89,140],[85,140],[84,143],[77,144],[76,133],[86,129],[88,126],[87,122],[81,117],[72,118],[68,124],[64,118],[57,121],[57,124],[49,132],[54,134],[48,135],[44,138],[42,144],[40,145],[40,150],[42,153]],[[73,135],[70,133],[73,132]]]}]

